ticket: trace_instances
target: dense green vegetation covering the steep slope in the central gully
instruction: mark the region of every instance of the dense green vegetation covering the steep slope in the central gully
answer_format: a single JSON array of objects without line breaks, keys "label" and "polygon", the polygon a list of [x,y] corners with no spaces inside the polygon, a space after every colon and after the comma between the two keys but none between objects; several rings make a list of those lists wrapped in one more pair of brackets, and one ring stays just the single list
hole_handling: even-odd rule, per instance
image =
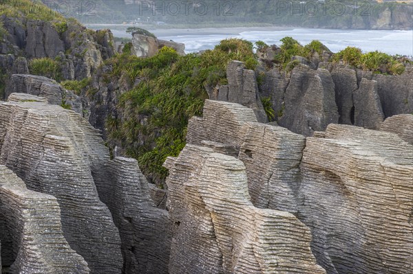
[{"label": "dense green vegetation covering the steep slope in the central gully", "polygon": [[201,115],[206,86],[227,84],[226,65],[230,60],[254,57],[253,44],[240,39],[222,41],[203,54],[179,56],[163,47],[151,58],[124,53],[106,61],[113,71],[108,78],[140,82],[123,93],[118,102],[120,117],[108,117],[109,142],[121,141],[130,157],[153,181],[167,176],[162,167],[168,156],[178,156],[185,146],[187,124],[193,115]]}]

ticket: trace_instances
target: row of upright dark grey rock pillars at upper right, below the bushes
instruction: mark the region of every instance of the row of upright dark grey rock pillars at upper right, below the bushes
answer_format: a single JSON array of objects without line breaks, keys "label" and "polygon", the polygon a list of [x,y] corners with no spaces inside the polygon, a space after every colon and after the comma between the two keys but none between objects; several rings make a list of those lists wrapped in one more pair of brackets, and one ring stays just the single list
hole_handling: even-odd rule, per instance
[{"label": "row of upright dark grey rock pillars at upper right, below the bushes", "polygon": [[[292,60],[299,60],[299,65],[291,73],[279,67],[268,70],[264,63],[257,67],[255,74],[260,78],[257,98],[271,102],[277,124],[294,133],[311,136],[315,131],[326,130],[328,124],[337,123],[379,129],[386,117],[413,113],[411,65],[405,65],[401,75],[381,75],[327,62],[331,54],[325,51],[325,55],[313,56],[308,64],[302,57],[293,56]],[[265,58],[262,62],[273,65],[272,60]],[[235,63],[241,66],[240,62]],[[315,64],[318,69],[314,68]],[[231,71],[227,71],[227,78],[229,82],[242,82],[242,78]],[[248,82],[250,86],[255,80]],[[241,91],[234,93],[235,98],[231,100],[226,86],[207,87],[207,91],[212,100],[237,102],[254,109],[259,121],[264,122],[257,111],[260,103],[252,104],[251,97],[246,100],[248,96]]]}]

